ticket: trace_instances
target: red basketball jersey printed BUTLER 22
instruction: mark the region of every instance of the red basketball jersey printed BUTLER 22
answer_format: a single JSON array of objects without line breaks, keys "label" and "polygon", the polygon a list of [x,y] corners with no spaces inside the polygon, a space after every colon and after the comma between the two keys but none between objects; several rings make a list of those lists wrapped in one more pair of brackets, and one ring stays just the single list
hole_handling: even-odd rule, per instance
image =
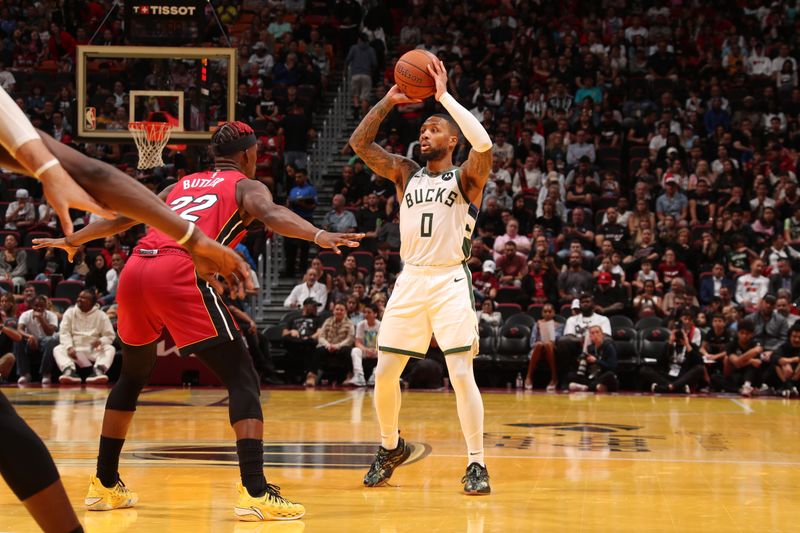
[{"label": "red basketball jersey printed BUTLER 22", "polygon": [[[190,174],[170,191],[167,205],[212,239],[233,248],[247,231],[236,203],[236,185],[246,179],[247,176],[238,170]],[[178,246],[175,239],[154,228],[147,231],[138,245],[145,249]]]}]

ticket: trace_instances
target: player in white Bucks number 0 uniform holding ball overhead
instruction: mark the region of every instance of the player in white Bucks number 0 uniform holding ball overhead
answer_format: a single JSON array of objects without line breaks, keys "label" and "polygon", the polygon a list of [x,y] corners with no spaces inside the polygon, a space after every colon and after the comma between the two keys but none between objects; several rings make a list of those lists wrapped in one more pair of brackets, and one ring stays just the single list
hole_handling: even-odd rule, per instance
[{"label": "player in white Bucks number 0 uniform holding ball overhead", "polygon": [[[444,352],[458,417],[467,443],[467,494],[488,494],[489,474],[483,458],[483,402],[472,370],[478,351],[478,322],[472,278],[465,261],[492,166],[492,141],[480,122],[447,94],[442,62],[428,67],[436,81],[436,100],[449,112],[422,124],[420,153],[426,162],[387,153],[374,142],[381,121],[398,104],[418,102],[395,85],[373,107],[350,137],[364,163],[394,182],[400,203],[400,257],[397,278],[378,332],[375,409],[381,446],[364,485],[385,484],[411,450],[400,438],[400,375],[409,357],[425,357],[431,333]],[[460,128],[460,132],[459,132]],[[459,133],[472,145],[467,161],[453,165]]]}]

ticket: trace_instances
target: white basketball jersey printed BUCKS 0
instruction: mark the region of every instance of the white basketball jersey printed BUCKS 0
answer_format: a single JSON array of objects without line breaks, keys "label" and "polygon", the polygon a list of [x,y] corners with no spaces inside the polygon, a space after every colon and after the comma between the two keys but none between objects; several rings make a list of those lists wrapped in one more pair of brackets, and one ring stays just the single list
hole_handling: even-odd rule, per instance
[{"label": "white basketball jersey printed BUCKS 0", "polygon": [[478,209],[461,188],[461,169],[431,174],[423,167],[400,201],[400,258],[416,266],[452,266],[469,259]]}]

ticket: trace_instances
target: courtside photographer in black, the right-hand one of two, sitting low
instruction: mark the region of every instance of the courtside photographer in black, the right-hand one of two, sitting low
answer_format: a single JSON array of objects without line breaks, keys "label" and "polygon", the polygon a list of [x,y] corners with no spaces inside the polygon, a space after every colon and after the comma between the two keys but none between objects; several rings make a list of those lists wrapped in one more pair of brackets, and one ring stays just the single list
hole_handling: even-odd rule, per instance
[{"label": "courtside photographer in black, the right-hand one of two, sitting low", "polygon": [[692,344],[682,325],[672,328],[669,342],[656,366],[644,365],[639,371],[643,386],[652,393],[682,392],[690,394],[705,381],[703,358]]}]

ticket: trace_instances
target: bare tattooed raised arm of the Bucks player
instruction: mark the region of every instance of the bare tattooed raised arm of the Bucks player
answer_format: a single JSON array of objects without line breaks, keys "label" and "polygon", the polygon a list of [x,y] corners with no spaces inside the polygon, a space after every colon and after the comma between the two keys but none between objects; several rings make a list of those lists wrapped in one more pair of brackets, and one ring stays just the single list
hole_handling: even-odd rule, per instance
[{"label": "bare tattooed raised arm of the Bucks player", "polygon": [[356,130],[350,136],[350,146],[364,163],[376,174],[391,180],[400,189],[403,187],[403,180],[419,169],[411,159],[403,156],[390,154],[375,142],[375,135],[378,127],[398,104],[416,103],[420,100],[408,98],[400,92],[397,85],[394,85],[383,99],[369,110],[367,116],[361,121]]}]

